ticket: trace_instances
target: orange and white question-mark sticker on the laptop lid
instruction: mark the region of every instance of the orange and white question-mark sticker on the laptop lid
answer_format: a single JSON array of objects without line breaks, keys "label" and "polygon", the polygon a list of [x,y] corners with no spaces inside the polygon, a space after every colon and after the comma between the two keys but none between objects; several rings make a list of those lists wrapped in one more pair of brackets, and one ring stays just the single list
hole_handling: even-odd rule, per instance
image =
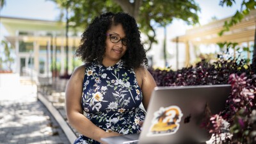
[{"label": "orange and white question-mark sticker on the laptop lid", "polygon": [[154,112],[154,119],[151,122],[147,136],[176,133],[182,116],[183,114],[178,106],[161,107],[157,112]]}]

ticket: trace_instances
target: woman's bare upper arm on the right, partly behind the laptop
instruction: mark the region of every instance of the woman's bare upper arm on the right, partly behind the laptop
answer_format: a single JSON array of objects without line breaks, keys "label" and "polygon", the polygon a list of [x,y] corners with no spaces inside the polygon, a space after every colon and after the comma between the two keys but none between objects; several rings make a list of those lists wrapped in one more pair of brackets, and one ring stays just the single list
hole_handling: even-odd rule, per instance
[{"label": "woman's bare upper arm on the right, partly behind the laptop", "polygon": [[156,82],[146,68],[139,68],[138,71],[136,71],[136,78],[143,95],[143,106],[145,110],[147,110],[151,94],[154,90],[154,87],[157,86]]}]

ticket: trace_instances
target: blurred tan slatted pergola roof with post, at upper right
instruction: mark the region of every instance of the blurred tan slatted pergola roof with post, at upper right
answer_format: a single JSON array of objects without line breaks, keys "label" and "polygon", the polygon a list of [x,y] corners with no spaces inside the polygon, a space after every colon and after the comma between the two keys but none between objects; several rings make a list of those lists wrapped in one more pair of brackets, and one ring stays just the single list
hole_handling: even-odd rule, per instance
[{"label": "blurred tan slatted pergola roof with post, at upper right", "polygon": [[[184,43],[186,45],[186,61],[185,66],[189,66],[189,44],[216,44],[216,43],[244,43],[246,42],[248,47],[250,41],[254,41],[255,28],[256,28],[256,10],[250,11],[250,15],[243,18],[241,22],[230,27],[230,31],[224,32],[222,36],[218,33],[223,29],[223,25],[231,17],[211,22],[210,24],[202,25],[189,29],[183,36],[177,36],[171,41],[175,43]],[[179,49],[179,48],[177,48]]]}]

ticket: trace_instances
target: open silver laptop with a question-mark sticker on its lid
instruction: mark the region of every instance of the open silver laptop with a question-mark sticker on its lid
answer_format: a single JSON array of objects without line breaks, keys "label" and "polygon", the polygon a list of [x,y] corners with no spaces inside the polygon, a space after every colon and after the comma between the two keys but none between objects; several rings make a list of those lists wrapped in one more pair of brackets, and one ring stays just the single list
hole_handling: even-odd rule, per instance
[{"label": "open silver laptop with a question-mark sticker on its lid", "polygon": [[205,113],[224,110],[230,92],[230,85],[156,87],[140,134],[102,140],[109,144],[207,143],[211,135],[202,127]]}]

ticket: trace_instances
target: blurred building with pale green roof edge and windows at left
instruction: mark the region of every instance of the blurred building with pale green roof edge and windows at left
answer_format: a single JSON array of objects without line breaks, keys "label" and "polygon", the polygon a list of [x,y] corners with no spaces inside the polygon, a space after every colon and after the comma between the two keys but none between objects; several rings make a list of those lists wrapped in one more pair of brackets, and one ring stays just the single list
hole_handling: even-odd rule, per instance
[{"label": "blurred building with pale green roof edge and windows at left", "polygon": [[[67,39],[64,22],[1,17],[1,23],[9,33],[4,39],[15,48],[15,73],[22,76],[24,68],[34,69],[47,77],[52,76],[52,68],[60,75],[65,73]],[[72,29],[68,32],[68,73],[74,69],[74,50],[79,45],[80,35]]]}]

